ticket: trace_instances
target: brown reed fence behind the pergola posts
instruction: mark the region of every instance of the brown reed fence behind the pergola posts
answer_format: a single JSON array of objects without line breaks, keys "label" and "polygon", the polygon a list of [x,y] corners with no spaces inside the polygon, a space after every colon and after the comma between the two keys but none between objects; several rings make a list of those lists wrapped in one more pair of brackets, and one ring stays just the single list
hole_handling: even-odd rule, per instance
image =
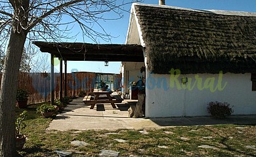
[{"label": "brown reed fence behind the pergola posts", "polygon": [[[0,73],[0,79],[2,74]],[[63,74],[64,77],[64,74]],[[120,84],[121,75],[116,82]],[[68,96],[78,96],[80,91],[91,94],[95,88],[96,73],[68,73],[67,74],[67,94]],[[62,82],[64,96],[64,78]],[[1,82],[0,82],[1,84]],[[28,103],[39,103],[51,99],[51,77],[43,77],[43,73],[20,73],[18,77],[18,88],[27,89],[30,92]],[[60,74],[54,73],[54,95],[55,99],[60,96]]]}]

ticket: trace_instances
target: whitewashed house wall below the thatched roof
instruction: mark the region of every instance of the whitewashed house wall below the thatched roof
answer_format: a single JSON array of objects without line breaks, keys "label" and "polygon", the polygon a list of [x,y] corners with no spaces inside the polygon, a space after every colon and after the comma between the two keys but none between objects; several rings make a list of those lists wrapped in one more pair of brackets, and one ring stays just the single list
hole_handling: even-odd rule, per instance
[{"label": "whitewashed house wall below the thatched roof", "polygon": [[[219,74],[198,75],[205,85],[208,84],[205,82],[207,78],[215,78],[213,87],[216,88]],[[225,83],[226,86],[222,91],[217,89],[215,92],[211,92],[209,88],[200,90],[197,85],[192,90],[177,89],[176,83],[171,88],[170,76],[146,74],[146,117],[208,116],[210,114],[207,113],[207,103],[210,101],[230,103],[234,109],[233,114],[256,114],[256,92],[251,90],[250,73],[224,74],[221,86]],[[180,84],[183,76],[177,79]],[[192,83],[196,80],[195,75],[186,77],[191,78]]]}]

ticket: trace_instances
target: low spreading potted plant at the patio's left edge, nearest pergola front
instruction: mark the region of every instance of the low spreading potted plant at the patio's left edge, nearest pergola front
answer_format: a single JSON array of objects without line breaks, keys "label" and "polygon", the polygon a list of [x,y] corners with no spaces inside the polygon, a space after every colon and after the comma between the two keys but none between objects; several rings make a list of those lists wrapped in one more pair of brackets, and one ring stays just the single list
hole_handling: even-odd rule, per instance
[{"label": "low spreading potted plant at the patio's left edge, nearest pergola front", "polygon": [[37,113],[42,114],[45,118],[51,118],[56,115],[56,106],[44,103],[43,105],[37,107]]}]

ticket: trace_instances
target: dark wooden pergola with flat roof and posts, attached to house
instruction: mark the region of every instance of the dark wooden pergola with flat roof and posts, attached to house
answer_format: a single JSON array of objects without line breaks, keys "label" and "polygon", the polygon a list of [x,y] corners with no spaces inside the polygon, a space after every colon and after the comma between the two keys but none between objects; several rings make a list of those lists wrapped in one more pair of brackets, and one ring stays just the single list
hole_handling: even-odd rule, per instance
[{"label": "dark wooden pergola with flat roof and posts, attached to house", "polygon": [[[54,101],[54,58],[60,60],[60,82],[62,61],[64,61],[64,96],[67,96],[67,61],[134,61],[144,62],[143,48],[137,44],[90,44],[90,43],[51,43],[34,41],[41,52],[51,54],[51,103]],[[60,99],[62,99],[60,85]]]}]

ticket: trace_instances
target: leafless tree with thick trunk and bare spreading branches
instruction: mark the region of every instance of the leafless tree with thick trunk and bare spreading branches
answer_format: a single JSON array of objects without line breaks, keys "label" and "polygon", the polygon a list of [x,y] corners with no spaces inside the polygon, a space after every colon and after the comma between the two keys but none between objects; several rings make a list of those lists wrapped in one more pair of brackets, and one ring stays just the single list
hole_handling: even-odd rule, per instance
[{"label": "leafless tree with thick trunk and bare spreading branches", "polygon": [[[131,3],[133,1],[129,1]],[[0,156],[16,156],[14,107],[18,71],[26,42],[35,39],[60,41],[70,38],[71,24],[78,24],[84,37],[109,41],[111,35],[100,26],[107,12],[121,18],[117,0],[5,0],[0,1],[1,46],[7,46],[0,90]],[[62,19],[68,19],[66,21]],[[97,24],[102,31],[95,31]],[[30,39],[30,40],[27,40]]]}]

